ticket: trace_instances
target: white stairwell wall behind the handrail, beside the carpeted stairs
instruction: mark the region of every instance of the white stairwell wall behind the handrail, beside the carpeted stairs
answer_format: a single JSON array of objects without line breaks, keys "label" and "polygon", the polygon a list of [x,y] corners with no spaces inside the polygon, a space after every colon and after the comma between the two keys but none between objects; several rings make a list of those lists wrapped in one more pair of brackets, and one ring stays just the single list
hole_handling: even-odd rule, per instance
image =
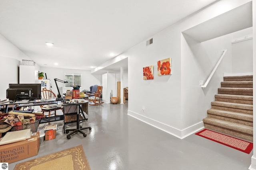
[{"label": "white stairwell wall behind the handrail, beside the carpeted stairs", "polygon": [[[182,38],[182,128],[193,126],[207,117],[206,110],[211,108],[210,102],[218,93],[224,72],[252,73],[252,39],[232,44],[232,39],[239,35],[247,33],[241,30],[204,42],[193,41],[188,36]],[[227,52],[208,87],[200,88],[199,80],[206,82],[224,49]]]}]

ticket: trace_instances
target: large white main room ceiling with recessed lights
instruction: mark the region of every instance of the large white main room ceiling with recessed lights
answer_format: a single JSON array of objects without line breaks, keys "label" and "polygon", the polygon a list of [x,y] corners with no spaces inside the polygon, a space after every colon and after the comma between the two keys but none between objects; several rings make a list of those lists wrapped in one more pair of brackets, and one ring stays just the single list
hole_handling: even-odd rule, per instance
[{"label": "large white main room ceiling with recessed lights", "polygon": [[41,67],[93,70],[215,1],[0,0],[0,34]]}]

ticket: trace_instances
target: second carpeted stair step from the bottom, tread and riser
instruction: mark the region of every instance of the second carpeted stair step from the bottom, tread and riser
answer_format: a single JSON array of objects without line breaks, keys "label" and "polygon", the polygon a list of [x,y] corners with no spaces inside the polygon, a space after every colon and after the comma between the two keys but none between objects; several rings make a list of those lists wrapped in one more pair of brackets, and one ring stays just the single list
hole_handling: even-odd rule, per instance
[{"label": "second carpeted stair step from the bottom, tread and riser", "polygon": [[246,113],[238,113],[233,111],[217,110],[217,109],[208,109],[208,117],[215,119],[221,119],[225,121],[230,121],[233,123],[239,123],[247,126],[253,126],[253,115]]}]

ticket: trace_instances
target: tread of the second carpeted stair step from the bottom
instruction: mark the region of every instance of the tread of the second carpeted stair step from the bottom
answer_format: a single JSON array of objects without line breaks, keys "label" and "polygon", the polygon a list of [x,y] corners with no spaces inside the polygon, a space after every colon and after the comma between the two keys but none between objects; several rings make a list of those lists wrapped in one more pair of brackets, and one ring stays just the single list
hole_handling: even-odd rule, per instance
[{"label": "tread of the second carpeted stair step from the bottom", "polygon": [[240,119],[244,121],[253,121],[253,115],[246,114],[246,113],[238,113],[234,111],[226,111],[226,110],[218,110],[218,109],[208,109],[208,114],[212,115],[219,115],[223,117],[229,117],[233,119]]}]

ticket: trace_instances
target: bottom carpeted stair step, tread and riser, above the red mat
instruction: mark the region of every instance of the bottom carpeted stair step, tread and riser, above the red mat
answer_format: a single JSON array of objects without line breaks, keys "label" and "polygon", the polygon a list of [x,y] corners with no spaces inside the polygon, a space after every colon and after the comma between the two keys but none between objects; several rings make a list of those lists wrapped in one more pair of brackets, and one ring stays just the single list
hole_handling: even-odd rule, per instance
[{"label": "bottom carpeted stair step, tread and riser, above the red mat", "polygon": [[204,127],[214,131],[226,133],[228,135],[233,135],[235,137],[240,137],[248,141],[253,141],[253,127],[241,125],[238,123],[228,122],[220,119],[215,119],[212,117],[206,117],[203,119]]}]

